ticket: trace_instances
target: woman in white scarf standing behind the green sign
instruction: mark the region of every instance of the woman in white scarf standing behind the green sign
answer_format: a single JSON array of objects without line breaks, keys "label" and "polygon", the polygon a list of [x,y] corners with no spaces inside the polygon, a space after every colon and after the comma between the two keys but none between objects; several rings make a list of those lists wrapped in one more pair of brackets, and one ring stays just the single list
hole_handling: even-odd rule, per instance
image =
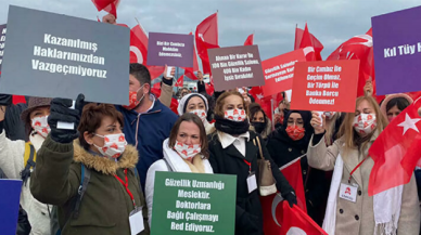
[{"label": "woman in white scarf standing behind the green sign", "polygon": [[194,114],[186,113],[176,121],[163,148],[164,158],[155,161],[146,174],[145,195],[150,224],[156,171],[214,172],[208,161],[206,132],[201,119]]}]

